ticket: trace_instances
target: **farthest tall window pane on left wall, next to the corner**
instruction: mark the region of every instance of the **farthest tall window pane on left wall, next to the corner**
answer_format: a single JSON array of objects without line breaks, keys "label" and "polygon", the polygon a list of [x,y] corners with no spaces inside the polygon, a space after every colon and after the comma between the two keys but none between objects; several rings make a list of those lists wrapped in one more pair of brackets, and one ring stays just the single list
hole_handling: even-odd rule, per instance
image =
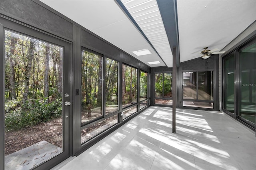
[{"label": "farthest tall window pane on left wall, next to the corner", "polygon": [[140,71],[140,101],[147,99],[148,95],[148,73]]}]

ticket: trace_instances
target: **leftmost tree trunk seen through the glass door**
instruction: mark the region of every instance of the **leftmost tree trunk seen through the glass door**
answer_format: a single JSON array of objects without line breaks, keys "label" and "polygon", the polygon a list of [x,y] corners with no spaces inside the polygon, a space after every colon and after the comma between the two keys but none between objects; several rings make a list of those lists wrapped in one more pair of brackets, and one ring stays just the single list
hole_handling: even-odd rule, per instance
[{"label": "leftmost tree trunk seen through the glass door", "polygon": [[14,52],[15,52],[15,45],[17,39],[13,38],[11,34],[11,43],[10,43],[10,75],[9,75],[9,83],[10,83],[10,90],[9,90],[9,100],[16,99],[16,92],[15,92],[15,62],[14,62]]}]

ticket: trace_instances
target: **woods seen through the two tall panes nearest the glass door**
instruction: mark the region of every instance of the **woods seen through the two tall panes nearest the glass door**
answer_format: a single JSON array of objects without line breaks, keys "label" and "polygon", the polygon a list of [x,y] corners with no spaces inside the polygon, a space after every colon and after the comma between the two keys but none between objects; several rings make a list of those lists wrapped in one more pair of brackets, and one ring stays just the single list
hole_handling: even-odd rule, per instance
[{"label": "woods seen through the two tall panes nearest the glass door", "polygon": [[118,110],[118,61],[105,58],[104,65],[103,57],[82,50],[82,123],[103,115],[103,85],[106,94],[106,114]]}]

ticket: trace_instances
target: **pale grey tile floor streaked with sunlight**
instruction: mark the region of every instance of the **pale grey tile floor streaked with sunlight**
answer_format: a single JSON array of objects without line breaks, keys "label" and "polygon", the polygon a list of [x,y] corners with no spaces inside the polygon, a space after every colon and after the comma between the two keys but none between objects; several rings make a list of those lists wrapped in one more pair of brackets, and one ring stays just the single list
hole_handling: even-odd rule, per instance
[{"label": "pale grey tile floor streaked with sunlight", "polygon": [[255,132],[226,114],[150,107],[60,170],[256,170]]}]

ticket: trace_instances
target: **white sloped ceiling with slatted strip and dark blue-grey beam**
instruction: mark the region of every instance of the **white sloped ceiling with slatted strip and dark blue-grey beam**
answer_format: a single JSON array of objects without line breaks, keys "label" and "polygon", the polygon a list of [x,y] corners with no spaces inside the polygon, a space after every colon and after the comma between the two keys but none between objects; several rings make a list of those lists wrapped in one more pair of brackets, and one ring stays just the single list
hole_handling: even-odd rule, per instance
[{"label": "white sloped ceiling with slatted strip and dark blue-grey beam", "polygon": [[172,67],[174,46],[180,62],[222,49],[256,21],[256,0],[40,1],[150,67]]}]

